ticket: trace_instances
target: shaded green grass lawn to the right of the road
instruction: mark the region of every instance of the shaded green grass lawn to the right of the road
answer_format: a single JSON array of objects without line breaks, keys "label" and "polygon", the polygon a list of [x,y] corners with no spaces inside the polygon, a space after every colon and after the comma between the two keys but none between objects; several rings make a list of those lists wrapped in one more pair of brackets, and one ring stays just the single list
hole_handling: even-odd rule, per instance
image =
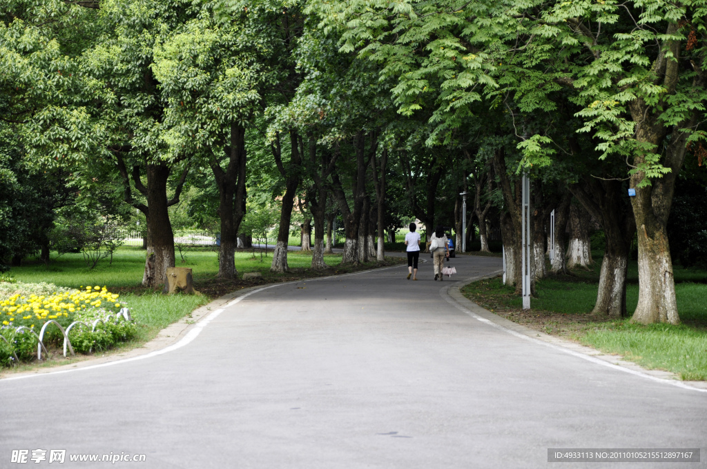
[{"label": "shaded green grass lawn to the right of the road", "polygon": [[[469,284],[462,293],[491,311],[539,331],[570,336],[603,352],[624,355],[644,367],[677,373],[682,379],[707,380],[707,271],[674,268],[682,321],[679,326],[643,326],[631,323],[630,318],[590,315],[597,299],[599,271],[597,262],[592,271],[578,269],[572,276],[540,280],[537,298],[530,302],[531,311],[522,311],[522,299],[500,278]],[[630,315],[638,304],[636,261],[629,263],[626,304]]]}]

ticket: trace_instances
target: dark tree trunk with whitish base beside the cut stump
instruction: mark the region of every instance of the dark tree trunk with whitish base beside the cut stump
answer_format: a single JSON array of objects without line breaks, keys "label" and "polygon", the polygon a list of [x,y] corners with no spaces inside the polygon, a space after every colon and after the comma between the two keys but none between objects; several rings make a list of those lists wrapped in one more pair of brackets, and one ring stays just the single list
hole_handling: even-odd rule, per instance
[{"label": "dark tree trunk with whitish base beside the cut stump", "polygon": [[170,169],[166,165],[147,165],[147,238],[145,273],[142,284],[155,288],[165,285],[167,268],[175,266],[175,244],[172,223],[168,213],[167,180]]}]

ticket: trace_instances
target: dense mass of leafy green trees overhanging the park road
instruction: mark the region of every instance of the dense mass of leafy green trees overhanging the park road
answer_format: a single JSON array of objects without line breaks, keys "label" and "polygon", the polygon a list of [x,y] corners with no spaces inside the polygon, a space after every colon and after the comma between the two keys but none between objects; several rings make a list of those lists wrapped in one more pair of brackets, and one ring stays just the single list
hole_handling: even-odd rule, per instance
[{"label": "dense mass of leafy green trees overhanging the park road", "polygon": [[[312,268],[325,268],[334,223],[342,262],[358,263],[382,260],[375,237],[416,218],[424,232],[452,228],[457,244],[478,231],[482,250],[501,233],[520,292],[527,172],[532,277],[547,274],[555,210],[551,272],[598,225],[616,274],[602,275],[597,310],[626,314],[633,244],[646,267],[634,319],[676,323],[670,252],[705,256],[698,227],[679,227],[703,196],[706,6],[8,1],[0,268],[35,253],[49,262],[52,248],[83,249],[90,266],[103,254],[87,246],[112,246],[90,233],[139,221],[152,287],[175,263],[177,226],[219,234],[222,278],[235,277],[237,239],[251,237],[272,239],[272,270],[286,271],[293,232],[314,251]],[[694,170],[681,175],[686,161]],[[76,214],[64,209],[74,203]],[[563,239],[568,223],[583,239]]]}]

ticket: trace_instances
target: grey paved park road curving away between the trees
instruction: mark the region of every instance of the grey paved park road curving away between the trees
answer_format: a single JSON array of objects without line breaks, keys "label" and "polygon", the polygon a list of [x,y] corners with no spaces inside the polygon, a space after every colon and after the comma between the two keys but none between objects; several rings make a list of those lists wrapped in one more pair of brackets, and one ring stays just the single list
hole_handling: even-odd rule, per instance
[{"label": "grey paved park road curving away between the trees", "polygon": [[[453,263],[457,278],[500,268]],[[405,273],[271,287],[172,352],[2,380],[0,468],[42,466],[9,463],[13,449],[66,449],[67,468],[107,467],[68,455],[111,452],[151,469],[706,466],[547,463],[556,447],[701,447],[705,461],[707,395],[478,321],[431,263],[418,282]]]}]

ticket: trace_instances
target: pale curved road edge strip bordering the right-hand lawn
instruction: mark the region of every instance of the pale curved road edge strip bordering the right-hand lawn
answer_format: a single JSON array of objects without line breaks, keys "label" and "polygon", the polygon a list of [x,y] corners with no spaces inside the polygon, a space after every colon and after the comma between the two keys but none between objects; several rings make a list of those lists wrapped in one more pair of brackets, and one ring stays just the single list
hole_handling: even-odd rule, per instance
[{"label": "pale curved road edge strip bordering the right-hand lawn", "polygon": [[465,285],[478,280],[484,280],[485,278],[493,278],[501,273],[503,273],[503,271],[496,271],[489,275],[481,275],[466,278],[464,280],[457,280],[452,285],[442,287],[440,289],[440,296],[452,306],[456,307],[465,314],[472,316],[472,318],[477,319],[482,323],[486,323],[489,326],[493,326],[500,331],[509,333],[512,336],[516,336],[533,343],[542,344],[549,348],[559,350],[560,352],[567,353],[568,355],[573,355],[583,360],[600,364],[604,367],[617,369],[621,372],[642,376],[643,378],[650,379],[652,381],[672,384],[672,386],[689,389],[691,391],[707,393],[707,381],[681,381],[679,380],[677,374],[672,372],[645,369],[636,363],[624,360],[619,355],[605,354],[600,352],[600,350],[596,350],[595,348],[591,348],[586,345],[580,345],[556,336],[550,336],[546,333],[534,331],[531,328],[527,328],[518,323],[514,323],[513,321],[509,321],[506,318],[498,316],[497,314],[493,314],[488,309],[480,307],[478,304],[462,295],[460,290]]}]

